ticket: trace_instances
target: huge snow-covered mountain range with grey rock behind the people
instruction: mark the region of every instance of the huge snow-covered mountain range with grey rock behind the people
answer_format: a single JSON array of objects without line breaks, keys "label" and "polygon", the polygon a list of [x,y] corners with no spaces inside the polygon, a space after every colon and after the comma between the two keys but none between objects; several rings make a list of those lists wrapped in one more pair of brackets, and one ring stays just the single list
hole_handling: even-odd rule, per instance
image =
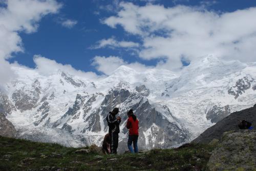
[{"label": "huge snow-covered mountain range with grey rock behind the people", "polygon": [[89,80],[61,70],[50,76],[12,67],[17,79],[0,94],[0,111],[19,137],[70,146],[97,144],[108,132],[106,115],[120,108],[119,150],[126,149],[126,111],[140,123],[141,149],[190,141],[231,112],[256,103],[256,63],[214,56],[179,72],[120,66],[108,77]]}]

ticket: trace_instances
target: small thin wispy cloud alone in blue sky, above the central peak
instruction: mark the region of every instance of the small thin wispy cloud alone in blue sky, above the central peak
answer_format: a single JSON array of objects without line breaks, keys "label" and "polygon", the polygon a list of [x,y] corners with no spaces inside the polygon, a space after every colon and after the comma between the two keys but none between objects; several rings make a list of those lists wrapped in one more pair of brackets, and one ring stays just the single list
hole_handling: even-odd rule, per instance
[{"label": "small thin wispy cloud alone in blue sky, above the central peak", "polygon": [[103,47],[125,47],[125,48],[132,48],[132,47],[139,47],[139,43],[133,41],[117,41],[115,38],[109,39],[102,39],[99,40],[95,46],[91,47],[93,49],[103,48]]}]

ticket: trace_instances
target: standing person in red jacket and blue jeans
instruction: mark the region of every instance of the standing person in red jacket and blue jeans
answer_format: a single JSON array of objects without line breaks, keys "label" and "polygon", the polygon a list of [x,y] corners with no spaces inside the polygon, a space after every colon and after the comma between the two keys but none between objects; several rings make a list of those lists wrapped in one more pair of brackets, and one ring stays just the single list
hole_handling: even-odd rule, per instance
[{"label": "standing person in red jacket and blue jeans", "polygon": [[[139,137],[139,120],[136,118],[136,116],[133,113],[133,109],[129,110],[127,112],[128,120],[126,124],[126,128],[129,129],[129,138],[128,138],[128,149],[131,153],[138,153],[138,137]],[[133,147],[132,147],[133,143]]]}]

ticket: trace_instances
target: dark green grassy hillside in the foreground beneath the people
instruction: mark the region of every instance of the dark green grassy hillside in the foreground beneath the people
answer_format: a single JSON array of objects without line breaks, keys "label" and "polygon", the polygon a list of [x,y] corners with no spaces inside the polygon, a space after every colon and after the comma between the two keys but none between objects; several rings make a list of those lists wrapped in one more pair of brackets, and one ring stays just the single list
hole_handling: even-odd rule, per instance
[{"label": "dark green grassy hillside in the foreground beneath the people", "polygon": [[178,149],[122,155],[76,153],[52,143],[39,143],[0,136],[0,170],[204,170],[213,147],[185,144]]}]

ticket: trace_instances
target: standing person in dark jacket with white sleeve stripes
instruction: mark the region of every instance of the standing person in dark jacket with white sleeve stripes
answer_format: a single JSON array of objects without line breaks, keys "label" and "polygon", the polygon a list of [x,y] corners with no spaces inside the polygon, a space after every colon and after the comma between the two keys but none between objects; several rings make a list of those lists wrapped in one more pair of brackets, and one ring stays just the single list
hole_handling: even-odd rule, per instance
[{"label": "standing person in dark jacket with white sleeve stripes", "polygon": [[120,116],[116,118],[116,114],[118,112],[119,112],[119,109],[114,108],[112,112],[109,112],[108,116],[106,117],[106,121],[108,121],[109,134],[111,139],[111,143],[110,143],[111,154],[117,154],[118,134],[120,132],[119,124],[121,122]]}]

